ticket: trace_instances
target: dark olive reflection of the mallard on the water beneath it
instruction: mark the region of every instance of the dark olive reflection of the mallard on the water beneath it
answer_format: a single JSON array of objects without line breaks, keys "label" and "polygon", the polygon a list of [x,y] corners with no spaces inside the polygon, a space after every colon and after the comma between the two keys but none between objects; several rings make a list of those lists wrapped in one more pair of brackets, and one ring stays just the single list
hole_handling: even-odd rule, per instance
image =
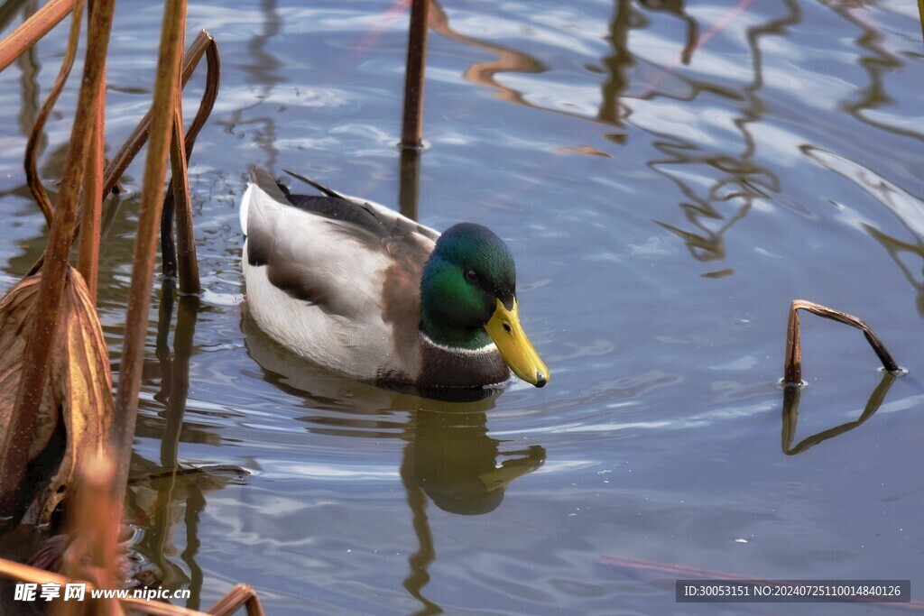
[{"label": "dark olive reflection of the mallard on the water beneath it", "polygon": [[[407,441],[402,476],[449,513],[493,511],[506,487],[545,461],[540,445],[509,452],[488,435],[487,411],[502,390],[388,390],[314,366],[274,343],[247,317],[243,328],[249,355],[264,379],[304,399],[312,409],[334,413],[301,417],[315,434]],[[397,421],[395,413],[409,414]],[[500,458],[503,461],[498,462]]]}]

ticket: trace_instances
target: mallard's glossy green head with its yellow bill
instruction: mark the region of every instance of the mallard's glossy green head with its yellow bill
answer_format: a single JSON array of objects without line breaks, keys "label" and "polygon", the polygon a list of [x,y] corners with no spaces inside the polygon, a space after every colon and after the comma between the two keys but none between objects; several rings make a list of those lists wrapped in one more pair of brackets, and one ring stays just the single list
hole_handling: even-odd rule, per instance
[{"label": "mallard's glossy green head with its yellow bill", "polygon": [[440,236],[420,281],[423,332],[437,344],[476,349],[493,340],[507,366],[537,387],[549,380],[517,312],[517,266],[504,240],[480,224]]}]

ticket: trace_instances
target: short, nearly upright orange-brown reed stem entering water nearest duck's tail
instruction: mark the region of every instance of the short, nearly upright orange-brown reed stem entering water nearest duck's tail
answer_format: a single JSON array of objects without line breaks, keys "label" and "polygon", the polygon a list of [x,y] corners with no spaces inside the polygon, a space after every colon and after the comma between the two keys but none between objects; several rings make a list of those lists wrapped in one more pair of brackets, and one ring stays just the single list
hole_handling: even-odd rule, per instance
[{"label": "short, nearly upright orange-brown reed stem entering water nearest duck's tail", "polygon": [[192,228],[192,203],[189,201],[187,153],[183,136],[182,94],[176,91],[173,137],[170,139],[170,187],[176,208],[176,243],[179,273],[179,291],[185,295],[199,295],[199,263],[196,261],[196,236]]}]

